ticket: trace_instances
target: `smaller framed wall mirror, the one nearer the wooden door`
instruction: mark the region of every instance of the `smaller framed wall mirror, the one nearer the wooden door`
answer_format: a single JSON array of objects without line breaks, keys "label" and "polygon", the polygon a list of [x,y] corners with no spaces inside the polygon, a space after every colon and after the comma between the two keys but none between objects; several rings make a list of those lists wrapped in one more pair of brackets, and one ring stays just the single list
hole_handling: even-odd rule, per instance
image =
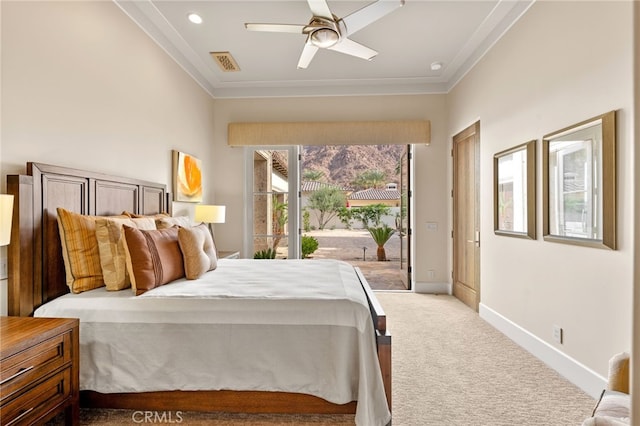
[{"label": "smaller framed wall mirror, the one nearer the wooden door", "polygon": [[494,231],[536,238],[536,141],[493,156]]}]

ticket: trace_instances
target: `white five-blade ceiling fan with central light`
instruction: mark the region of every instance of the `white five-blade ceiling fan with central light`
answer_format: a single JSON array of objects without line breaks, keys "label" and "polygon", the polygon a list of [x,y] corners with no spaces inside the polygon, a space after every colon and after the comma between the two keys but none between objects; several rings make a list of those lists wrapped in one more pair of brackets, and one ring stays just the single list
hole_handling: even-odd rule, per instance
[{"label": "white five-blade ceiling fan with central light", "polygon": [[307,25],[296,24],[244,24],[250,31],[269,31],[305,34],[298,68],[307,68],[318,49],[329,49],[370,61],[378,54],[373,49],[348,37],[374,21],[404,5],[405,0],[378,0],[343,18],[329,9],[326,0],[307,0],[313,16]]}]

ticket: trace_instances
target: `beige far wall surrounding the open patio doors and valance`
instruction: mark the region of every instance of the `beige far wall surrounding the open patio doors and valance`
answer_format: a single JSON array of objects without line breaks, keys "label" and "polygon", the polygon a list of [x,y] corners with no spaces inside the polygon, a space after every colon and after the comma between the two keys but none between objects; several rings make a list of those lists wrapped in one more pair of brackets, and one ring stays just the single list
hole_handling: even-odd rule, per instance
[{"label": "beige far wall surrounding the open patio doors and valance", "polygon": [[[449,272],[446,247],[448,238],[448,196],[446,158],[445,95],[362,96],[274,99],[218,99],[215,108],[216,164],[214,179],[216,202],[227,205],[232,222],[216,228],[216,241],[224,249],[242,247],[244,212],[243,148],[227,146],[227,124],[242,121],[340,121],[340,120],[430,120],[431,144],[415,148],[415,280],[447,282]],[[222,183],[224,182],[224,183]],[[427,222],[439,224],[437,230],[427,229]],[[435,278],[427,279],[427,270]]]}]

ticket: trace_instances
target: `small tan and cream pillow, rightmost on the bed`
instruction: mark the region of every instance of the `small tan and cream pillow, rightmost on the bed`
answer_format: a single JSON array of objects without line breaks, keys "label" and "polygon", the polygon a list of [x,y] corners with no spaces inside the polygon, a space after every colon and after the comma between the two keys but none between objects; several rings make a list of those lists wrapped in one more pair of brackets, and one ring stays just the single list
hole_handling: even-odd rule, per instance
[{"label": "small tan and cream pillow, rightmost on the bed", "polygon": [[213,238],[206,225],[178,230],[178,243],[184,258],[184,272],[189,280],[195,280],[218,266],[218,256]]}]

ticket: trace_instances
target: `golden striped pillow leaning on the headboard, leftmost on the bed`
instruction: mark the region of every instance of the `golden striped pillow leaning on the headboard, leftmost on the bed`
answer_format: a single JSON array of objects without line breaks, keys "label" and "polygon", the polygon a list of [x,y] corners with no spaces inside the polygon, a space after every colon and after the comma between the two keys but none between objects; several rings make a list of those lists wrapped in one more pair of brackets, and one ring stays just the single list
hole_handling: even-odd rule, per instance
[{"label": "golden striped pillow leaning on the headboard, leftmost on the bed", "polygon": [[81,293],[102,287],[104,281],[95,224],[101,216],[82,215],[62,207],[56,211],[69,290]]}]

